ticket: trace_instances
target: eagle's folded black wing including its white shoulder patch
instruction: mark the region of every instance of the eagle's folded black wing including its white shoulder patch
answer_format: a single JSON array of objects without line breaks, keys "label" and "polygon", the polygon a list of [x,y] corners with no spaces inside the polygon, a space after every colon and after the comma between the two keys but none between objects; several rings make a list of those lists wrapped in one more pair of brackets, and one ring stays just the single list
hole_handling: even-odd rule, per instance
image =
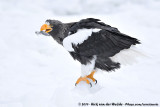
[{"label": "eagle's folded black wing including its white shoulder patch", "polygon": [[140,43],[136,38],[122,34],[117,28],[99,19],[83,19],[70,28],[70,36],[63,41],[64,47],[82,56],[101,55],[111,57],[131,45]]}]

